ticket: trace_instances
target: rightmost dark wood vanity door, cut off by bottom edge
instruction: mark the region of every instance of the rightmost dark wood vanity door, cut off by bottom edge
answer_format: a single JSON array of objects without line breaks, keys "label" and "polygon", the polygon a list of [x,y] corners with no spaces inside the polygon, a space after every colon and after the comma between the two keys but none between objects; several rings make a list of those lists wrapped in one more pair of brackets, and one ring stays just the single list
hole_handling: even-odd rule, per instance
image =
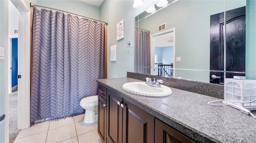
[{"label": "rightmost dark wood vanity door, cut off by bottom edge", "polygon": [[156,119],[155,127],[156,143],[195,143],[158,119]]}]

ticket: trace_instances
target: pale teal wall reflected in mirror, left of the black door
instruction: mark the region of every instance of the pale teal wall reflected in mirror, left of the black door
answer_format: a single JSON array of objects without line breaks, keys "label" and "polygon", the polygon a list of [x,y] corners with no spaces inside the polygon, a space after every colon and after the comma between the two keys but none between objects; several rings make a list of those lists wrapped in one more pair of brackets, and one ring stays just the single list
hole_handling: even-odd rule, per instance
[{"label": "pale teal wall reflected in mirror, left of the black door", "polygon": [[[140,20],[139,27],[150,30],[151,34],[157,33],[158,25],[163,23],[166,23],[166,29],[175,27],[175,56],[181,57],[175,68],[209,70],[210,15],[245,5],[245,0],[179,0],[168,6],[170,8]],[[176,76],[191,76],[191,79],[209,82],[208,71],[184,70],[176,72]]]}]

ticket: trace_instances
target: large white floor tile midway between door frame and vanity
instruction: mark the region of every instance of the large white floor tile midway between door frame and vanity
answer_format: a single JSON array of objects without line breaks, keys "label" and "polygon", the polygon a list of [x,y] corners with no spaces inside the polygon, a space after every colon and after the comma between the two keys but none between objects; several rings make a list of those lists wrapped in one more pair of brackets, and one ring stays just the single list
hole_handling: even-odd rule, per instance
[{"label": "large white floor tile midway between door frame and vanity", "polygon": [[76,137],[76,128],[74,123],[49,130],[46,143],[57,143],[72,137]]}]

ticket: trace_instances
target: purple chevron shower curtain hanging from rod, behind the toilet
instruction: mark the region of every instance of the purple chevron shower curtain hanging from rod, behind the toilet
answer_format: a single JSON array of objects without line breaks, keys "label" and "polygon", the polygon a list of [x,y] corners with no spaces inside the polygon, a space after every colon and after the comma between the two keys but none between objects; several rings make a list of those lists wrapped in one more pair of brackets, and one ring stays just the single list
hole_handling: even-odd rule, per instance
[{"label": "purple chevron shower curtain hanging from rod, behind the toilet", "polygon": [[30,121],[81,114],[104,78],[105,24],[34,8]]}]

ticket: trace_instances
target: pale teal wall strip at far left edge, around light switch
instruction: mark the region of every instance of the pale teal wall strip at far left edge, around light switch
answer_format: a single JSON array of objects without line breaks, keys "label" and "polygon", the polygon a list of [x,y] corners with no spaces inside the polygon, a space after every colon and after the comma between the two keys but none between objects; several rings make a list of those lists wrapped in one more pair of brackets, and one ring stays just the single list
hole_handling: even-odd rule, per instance
[{"label": "pale teal wall strip at far left edge, around light switch", "polygon": [[[8,1],[0,0],[0,47],[6,48],[7,33],[7,12],[6,12],[6,3]],[[5,86],[5,60],[0,60],[0,114],[5,113],[5,89],[8,86]],[[8,117],[7,117],[8,118]],[[5,123],[6,119],[0,122],[0,143],[5,143]]]}]

